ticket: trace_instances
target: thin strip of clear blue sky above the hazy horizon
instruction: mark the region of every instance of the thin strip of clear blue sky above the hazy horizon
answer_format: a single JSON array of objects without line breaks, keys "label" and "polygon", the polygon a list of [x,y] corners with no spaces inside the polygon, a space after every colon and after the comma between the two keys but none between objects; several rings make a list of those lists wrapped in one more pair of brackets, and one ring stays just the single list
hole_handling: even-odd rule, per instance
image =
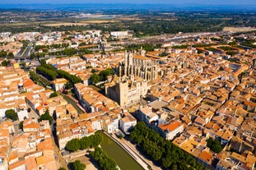
[{"label": "thin strip of clear blue sky above the hazy horizon", "polygon": [[170,3],[184,4],[197,3],[206,5],[256,5],[256,0],[0,0],[0,4],[16,4],[16,3]]}]

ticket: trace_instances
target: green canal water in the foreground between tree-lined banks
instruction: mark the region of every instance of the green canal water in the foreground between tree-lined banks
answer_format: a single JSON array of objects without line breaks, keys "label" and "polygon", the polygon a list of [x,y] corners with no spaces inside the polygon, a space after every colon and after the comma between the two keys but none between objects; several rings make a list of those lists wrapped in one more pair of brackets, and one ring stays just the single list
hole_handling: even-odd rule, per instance
[{"label": "green canal water in the foreground between tree-lined banks", "polygon": [[106,136],[103,132],[97,131],[103,136],[101,148],[109,155],[110,158],[119,165],[121,170],[143,170],[143,168],[128,154],[126,151],[116,144],[113,140]]}]

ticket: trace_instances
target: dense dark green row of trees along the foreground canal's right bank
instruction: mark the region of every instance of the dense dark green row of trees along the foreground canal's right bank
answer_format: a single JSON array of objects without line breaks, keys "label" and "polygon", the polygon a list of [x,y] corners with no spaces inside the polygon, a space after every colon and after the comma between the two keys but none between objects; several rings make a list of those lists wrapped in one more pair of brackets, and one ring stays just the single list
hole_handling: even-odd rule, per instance
[{"label": "dense dark green row of trees along the foreground canal's right bank", "polygon": [[164,140],[159,133],[147,127],[144,122],[137,122],[130,134],[130,139],[137,144],[142,151],[149,155],[157,163],[161,163],[166,169],[198,169],[195,159],[187,152],[173,145],[171,141]]}]

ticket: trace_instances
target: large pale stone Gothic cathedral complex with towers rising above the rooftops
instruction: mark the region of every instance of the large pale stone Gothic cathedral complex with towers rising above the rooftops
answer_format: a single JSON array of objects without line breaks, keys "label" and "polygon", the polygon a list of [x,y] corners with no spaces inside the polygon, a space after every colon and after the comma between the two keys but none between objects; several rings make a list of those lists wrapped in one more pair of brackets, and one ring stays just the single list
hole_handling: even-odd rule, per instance
[{"label": "large pale stone Gothic cathedral complex with towers rising above the rooftops", "polygon": [[150,89],[148,81],[158,76],[158,64],[143,55],[126,53],[124,62],[119,63],[118,76],[105,84],[105,94],[120,106],[138,102]]}]

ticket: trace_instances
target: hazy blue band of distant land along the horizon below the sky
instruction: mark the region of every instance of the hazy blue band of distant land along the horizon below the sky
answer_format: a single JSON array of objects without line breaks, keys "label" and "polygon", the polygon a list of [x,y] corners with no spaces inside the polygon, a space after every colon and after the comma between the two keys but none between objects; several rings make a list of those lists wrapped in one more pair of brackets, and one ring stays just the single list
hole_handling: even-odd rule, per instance
[{"label": "hazy blue band of distant land along the horizon below the sky", "polygon": [[[1,2],[1,0],[0,0]],[[0,3],[0,9],[25,10],[209,10],[209,11],[255,11],[256,5],[249,4],[203,4],[203,3],[128,3],[128,2],[69,2],[69,3]]]}]

